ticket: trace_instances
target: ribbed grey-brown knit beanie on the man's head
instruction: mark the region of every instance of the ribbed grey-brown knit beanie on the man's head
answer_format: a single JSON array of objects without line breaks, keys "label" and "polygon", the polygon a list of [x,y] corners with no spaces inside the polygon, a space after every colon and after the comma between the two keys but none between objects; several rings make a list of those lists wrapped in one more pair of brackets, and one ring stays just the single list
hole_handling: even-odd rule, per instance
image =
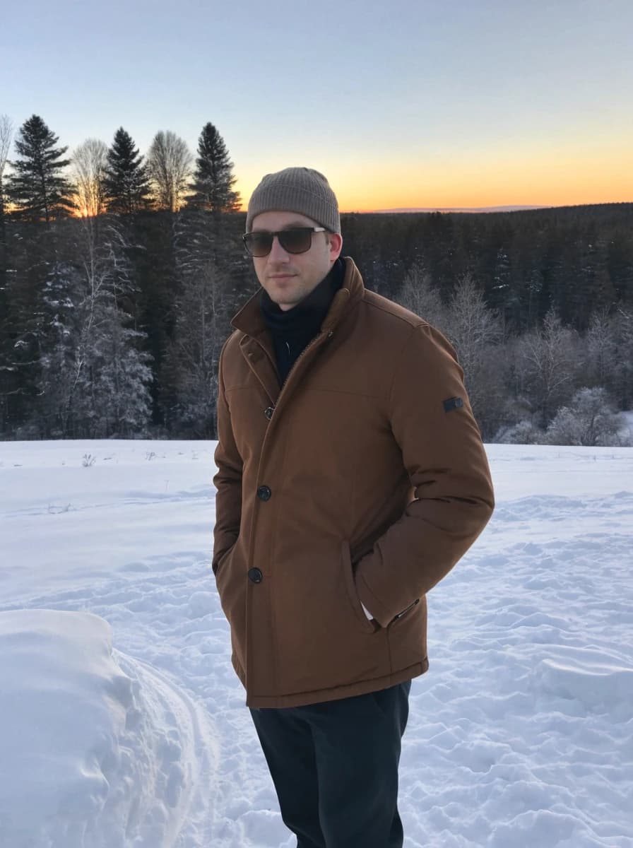
[{"label": "ribbed grey-brown knit beanie on the man's head", "polygon": [[285,168],[266,174],[248,203],[247,232],[251,232],[255,215],[273,210],[298,212],[330,232],[341,232],[336,195],[325,176],[312,168]]}]

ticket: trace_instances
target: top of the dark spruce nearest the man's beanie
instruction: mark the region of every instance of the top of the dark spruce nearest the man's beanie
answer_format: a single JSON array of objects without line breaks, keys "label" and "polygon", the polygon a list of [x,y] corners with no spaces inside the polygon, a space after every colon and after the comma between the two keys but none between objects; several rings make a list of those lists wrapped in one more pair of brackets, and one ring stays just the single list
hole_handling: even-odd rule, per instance
[{"label": "top of the dark spruce nearest the man's beanie", "polygon": [[209,212],[236,212],[240,209],[240,195],[233,189],[235,183],[225,141],[209,122],[203,126],[197,142],[194,193],[189,204]]}]

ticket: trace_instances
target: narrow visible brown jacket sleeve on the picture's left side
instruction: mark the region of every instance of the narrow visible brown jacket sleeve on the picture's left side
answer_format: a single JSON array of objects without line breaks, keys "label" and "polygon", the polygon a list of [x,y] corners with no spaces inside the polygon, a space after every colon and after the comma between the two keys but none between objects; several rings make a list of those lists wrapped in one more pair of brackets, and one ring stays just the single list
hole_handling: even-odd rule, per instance
[{"label": "narrow visible brown jacket sleeve on the picture's left side", "polygon": [[215,525],[214,557],[212,568],[217,571],[218,563],[235,544],[240,533],[242,518],[242,456],[237,449],[230,421],[230,410],[226,403],[223,359],[225,348],[219,357],[218,368],[218,446],[214,459],[217,473],[214,476]]}]

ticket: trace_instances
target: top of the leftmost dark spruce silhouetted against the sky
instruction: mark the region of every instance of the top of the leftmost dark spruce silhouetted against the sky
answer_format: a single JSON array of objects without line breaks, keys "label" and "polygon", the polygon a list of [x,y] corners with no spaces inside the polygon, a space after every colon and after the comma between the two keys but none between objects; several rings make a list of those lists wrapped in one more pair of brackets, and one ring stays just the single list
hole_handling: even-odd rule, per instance
[{"label": "top of the leftmost dark spruce silhouetted against the sky", "polygon": [[31,115],[20,127],[15,147],[21,159],[11,163],[14,174],[7,187],[16,218],[49,223],[72,212],[72,188],[62,174],[69,165],[69,159],[62,158],[68,148],[56,147],[57,142],[39,115]]}]

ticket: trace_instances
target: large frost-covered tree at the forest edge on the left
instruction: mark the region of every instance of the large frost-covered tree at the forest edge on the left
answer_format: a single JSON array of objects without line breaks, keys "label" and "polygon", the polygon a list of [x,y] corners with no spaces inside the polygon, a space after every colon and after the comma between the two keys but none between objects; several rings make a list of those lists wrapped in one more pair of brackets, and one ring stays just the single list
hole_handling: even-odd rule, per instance
[{"label": "large frost-covered tree at the forest edge on the left", "polygon": [[58,266],[43,293],[40,415],[48,436],[145,432],[152,380],[141,332],[130,326],[125,244],[112,225],[82,222],[78,261]]}]

